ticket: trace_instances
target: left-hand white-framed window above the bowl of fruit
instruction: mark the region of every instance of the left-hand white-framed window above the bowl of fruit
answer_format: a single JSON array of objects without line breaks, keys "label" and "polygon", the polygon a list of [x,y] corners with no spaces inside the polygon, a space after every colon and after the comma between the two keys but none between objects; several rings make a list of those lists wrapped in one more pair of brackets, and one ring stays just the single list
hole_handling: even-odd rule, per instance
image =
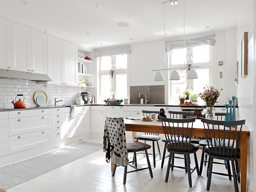
[{"label": "left-hand white-framed window above the bowl of fruit", "polygon": [[[127,98],[127,54],[102,57],[100,60],[100,100]],[[110,80],[109,71],[113,70]]]}]

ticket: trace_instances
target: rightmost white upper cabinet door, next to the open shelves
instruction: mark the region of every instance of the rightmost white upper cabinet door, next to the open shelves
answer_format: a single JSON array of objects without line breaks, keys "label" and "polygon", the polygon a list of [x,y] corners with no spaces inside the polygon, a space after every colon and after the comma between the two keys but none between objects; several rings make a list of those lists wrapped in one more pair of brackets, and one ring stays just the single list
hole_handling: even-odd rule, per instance
[{"label": "rightmost white upper cabinet door, next to the open shelves", "polygon": [[64,84],[77,86],[77,46],[64,41]]}]

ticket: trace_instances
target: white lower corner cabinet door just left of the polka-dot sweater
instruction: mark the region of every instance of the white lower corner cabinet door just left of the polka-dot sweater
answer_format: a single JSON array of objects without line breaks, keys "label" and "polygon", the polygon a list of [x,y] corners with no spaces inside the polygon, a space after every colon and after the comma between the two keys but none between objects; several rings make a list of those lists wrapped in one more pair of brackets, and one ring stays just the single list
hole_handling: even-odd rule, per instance
[{"label": "white lower corner cabinet door just left of the polka-dot sweater", "polygon": [[103,133],[104,121],[103,111],[91,111],[91,132]]}]

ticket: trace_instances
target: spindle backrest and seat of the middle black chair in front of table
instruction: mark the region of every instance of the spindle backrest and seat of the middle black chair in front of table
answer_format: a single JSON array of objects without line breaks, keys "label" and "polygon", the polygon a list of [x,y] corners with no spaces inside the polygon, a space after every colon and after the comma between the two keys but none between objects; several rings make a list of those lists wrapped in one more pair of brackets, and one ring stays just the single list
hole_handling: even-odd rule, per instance
[{"label": "spindle backrest and seat of the middle black chair in front of table", "polygon": [[[196,121],[196,118],[169,119],[159,117],[159,119],[162,121],[168,150],[189,152],[193,122]],[[170,135],[178,135],[178,137],[171,137]]]}]

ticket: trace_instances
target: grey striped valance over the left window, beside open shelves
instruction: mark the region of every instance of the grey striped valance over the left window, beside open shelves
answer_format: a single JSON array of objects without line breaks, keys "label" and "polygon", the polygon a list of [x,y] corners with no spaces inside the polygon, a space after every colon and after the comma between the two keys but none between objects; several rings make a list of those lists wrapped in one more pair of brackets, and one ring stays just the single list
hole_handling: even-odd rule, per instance
[{"label": "grey striped valance over the left window, beside open shelves", "polygon": [[94,58],[130,54],[131,53],[130,48],[131,48],[130,45],[125,45],[120,47],[97,49],[97,50],[94,50]]}]

